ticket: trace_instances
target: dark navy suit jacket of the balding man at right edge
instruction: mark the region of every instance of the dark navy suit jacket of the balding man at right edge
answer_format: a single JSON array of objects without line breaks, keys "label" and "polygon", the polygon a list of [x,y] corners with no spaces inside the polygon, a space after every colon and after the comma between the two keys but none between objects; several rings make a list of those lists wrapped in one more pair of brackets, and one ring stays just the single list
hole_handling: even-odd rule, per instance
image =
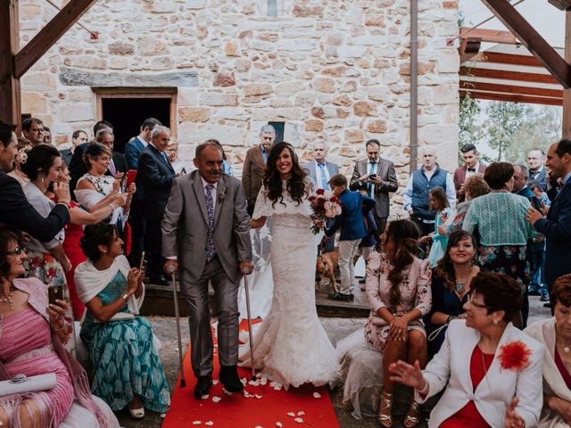
[{"label": "dark navy suit jacket of the balding man at right edge", "polygon": [[534,227],[546,238],[545,283],[551,289],[559,276],[571,273],[571,180],[551,203],[547,218],[537,220]]}]

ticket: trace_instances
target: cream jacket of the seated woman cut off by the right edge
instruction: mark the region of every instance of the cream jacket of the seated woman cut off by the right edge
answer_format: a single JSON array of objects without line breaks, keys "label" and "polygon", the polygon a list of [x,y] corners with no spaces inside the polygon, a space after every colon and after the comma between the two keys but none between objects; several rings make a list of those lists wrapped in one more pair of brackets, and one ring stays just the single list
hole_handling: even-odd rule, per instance
[{"label": "cream jacket of the seated woman cut off by the right edge", "polygon": [[[571,401],[571,391],[559,373],[555,364],[555,317],[537,321],[525,329],[525,333],[532,336],[536,341],[545,345],[543,352],[543,391],[546,395],[556,395],[560,399]],[[543,407],[542,417],[538,428],[556,428],[569,426],[555,412]]]}]

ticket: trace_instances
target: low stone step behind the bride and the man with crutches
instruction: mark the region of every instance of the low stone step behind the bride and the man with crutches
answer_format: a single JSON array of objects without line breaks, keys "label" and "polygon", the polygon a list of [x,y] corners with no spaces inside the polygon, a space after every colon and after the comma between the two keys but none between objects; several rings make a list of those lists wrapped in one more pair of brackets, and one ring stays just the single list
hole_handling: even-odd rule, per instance
[{"label": "low stone step behind the bride and the man with crutches", "polygon": [[[179,288],[177,288],[177,290],[180,316],[187,317],[189,314],[188,304],[179,292]],[[364,297],[364,292],[360,290],[356,291],[354,301],[328,300],[327,292],[329,292],[328,287],[327,289],[316,292],[316,306],[319,317],[368,317],[370,308],[368,307],[366,297]],[[212,289],[209,290],[208,296],[211,308],[214,309],[214,291]],[[145,284],[145,303],[143,304],[143,308],[141,308],[141,315],[174,317],[175,309],[172,287],[170,285]]]}]

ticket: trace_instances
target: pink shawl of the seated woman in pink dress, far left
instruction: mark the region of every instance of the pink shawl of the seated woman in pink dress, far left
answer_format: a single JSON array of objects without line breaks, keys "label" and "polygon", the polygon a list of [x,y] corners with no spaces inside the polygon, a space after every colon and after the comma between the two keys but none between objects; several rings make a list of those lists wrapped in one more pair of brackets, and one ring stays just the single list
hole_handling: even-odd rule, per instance
[{"label": "pink shawl of the seated woman in pink dress, far left", "polygon": [[[21,292],[28,294],[28,303],[32,309],[36,310],[38,314],[46,318],[49,323],[50,318],[46,313],[48,305],[47,300],[47,286],[37,278],[14,279],[14,287]],[[1,333],[1,332],[0,332]],[[109,421],[103,416],[99,406],[95,403],[91,390],[89,388],[89,380],[85,369],[79,364],[78,360],[73,358],[71,354],[63,347],[59,337],[52,329],[52,343],[57,356],[62,360],[64,366],[67,367],[70,374],[71,382],[73,383],[73,391],[75,399],[79,404],[86,407],[97,418],[97,422],[101,428],[109,428]],[[6,371],[4,364],[0,361],[0,381],[10,379],[10,374]]]}]

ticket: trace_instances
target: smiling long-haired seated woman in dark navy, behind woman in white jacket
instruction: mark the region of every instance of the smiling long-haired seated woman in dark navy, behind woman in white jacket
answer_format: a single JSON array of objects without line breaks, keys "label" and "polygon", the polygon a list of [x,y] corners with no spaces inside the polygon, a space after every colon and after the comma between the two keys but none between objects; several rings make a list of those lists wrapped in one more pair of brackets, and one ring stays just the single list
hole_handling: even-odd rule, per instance
[{"label": "smiling long-haired seated woman in dark navy, behind woman in white jacket", "polygon": [[429,360],[443,345],[451,320],[466,319],[463,307],[470,296],[470,282],[480,272],[473,264],[475,256],[474,236],[457,230],[450,235],[444,257],[432,270],[432,309],[425,317]]}]

